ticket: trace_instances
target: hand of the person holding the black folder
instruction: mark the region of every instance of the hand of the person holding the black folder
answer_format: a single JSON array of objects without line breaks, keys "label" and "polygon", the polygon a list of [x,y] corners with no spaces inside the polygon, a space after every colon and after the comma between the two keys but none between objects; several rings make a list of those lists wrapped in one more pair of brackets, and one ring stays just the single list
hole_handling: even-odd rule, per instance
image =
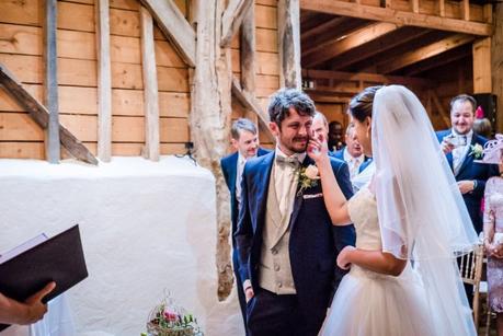
[{"label": "hand of the person holding the black folder", "polygon": [[55,288],[56,283],[49,282],[24,302],[0,293],[0,323],[32,324],[37,322],[47,312],[47,304],[42,303],[42,300]]}]

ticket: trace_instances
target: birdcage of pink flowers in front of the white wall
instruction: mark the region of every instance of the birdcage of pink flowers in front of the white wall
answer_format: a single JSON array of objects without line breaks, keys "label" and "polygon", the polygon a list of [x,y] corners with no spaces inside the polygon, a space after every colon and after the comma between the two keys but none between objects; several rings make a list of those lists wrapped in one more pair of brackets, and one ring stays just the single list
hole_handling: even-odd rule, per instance
[{"label": "birdcage of pink flowers in front of the white wall", "polygon": [[169,296],[149,315],[141,336],[203,336],[196,318],[178,306]]}]

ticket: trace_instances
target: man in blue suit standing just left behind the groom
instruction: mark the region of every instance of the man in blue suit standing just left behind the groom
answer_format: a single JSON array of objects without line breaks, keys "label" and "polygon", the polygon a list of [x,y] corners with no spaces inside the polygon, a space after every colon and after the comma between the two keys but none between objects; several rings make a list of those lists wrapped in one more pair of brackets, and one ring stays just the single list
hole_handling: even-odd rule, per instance
[{"label": "man in blue suit standing just left behind the groom", "polygon": [[236,152],[220,160],[221,172],[226,179],[230,193],[230,219],[232,224],[232,267],[238,286],[238,299],[243,316],[244,328],[247,318],[247,301],[239,276],[238,252],[233,234],[238,225],[239,201],[241,196],[241,177],[244,164],[251,158],[261,157],[268,153],[268,150],[259,147],[259,132],[255,124],[250,119],[240,118],[232,124],[230,129],[231,144]]}]

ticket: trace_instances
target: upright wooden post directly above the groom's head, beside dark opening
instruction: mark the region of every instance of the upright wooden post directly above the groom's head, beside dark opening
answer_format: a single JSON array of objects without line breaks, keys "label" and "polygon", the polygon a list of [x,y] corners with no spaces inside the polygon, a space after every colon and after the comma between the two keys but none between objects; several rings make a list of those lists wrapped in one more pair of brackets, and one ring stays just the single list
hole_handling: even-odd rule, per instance
[{"label": "upright wooden post directly above the groom's head, beside dark opening", "polygon": [[300,69],[300,7],[299,0],[277,3],[277,34],[279,50],[279,85],[301,88]]}]

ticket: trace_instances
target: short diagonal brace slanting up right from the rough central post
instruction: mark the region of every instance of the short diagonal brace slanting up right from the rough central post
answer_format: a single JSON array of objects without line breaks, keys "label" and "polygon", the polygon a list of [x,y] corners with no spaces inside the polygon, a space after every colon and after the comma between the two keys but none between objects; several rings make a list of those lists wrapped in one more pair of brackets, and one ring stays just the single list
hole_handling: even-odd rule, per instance
[{"label": "short diagonal brace slanting up right from the rough central post", "polygon": [[238,33],[247,12],[253,4],[253,0],[230,0],[221,18],[220,47],[227,48],[232,37]]}]

